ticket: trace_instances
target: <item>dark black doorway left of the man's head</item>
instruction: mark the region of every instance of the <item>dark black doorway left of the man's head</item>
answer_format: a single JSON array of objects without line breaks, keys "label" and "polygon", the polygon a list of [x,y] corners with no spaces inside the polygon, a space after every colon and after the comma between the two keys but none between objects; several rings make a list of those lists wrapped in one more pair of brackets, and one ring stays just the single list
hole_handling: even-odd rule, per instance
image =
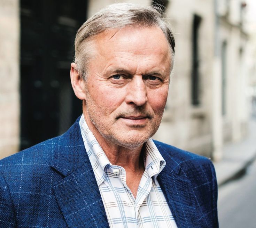
[{"label": "dark black doorway left of the man's head", "polygon": [[82,113],[70,84],[86,0],[21,0],[21,149],[66,131]]}]

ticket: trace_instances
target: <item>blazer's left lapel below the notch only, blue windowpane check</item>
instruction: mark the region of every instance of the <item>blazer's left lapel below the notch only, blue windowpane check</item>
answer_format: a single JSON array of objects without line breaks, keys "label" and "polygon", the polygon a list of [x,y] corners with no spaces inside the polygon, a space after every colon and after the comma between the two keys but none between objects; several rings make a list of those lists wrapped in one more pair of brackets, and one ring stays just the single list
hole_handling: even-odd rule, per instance
[{"label": "blazer's left lapel below the notch only, blue windowpane check", "polygon": [[70,228],[109,227],[91,166],[84,164],[58,182],[53,189]]}]

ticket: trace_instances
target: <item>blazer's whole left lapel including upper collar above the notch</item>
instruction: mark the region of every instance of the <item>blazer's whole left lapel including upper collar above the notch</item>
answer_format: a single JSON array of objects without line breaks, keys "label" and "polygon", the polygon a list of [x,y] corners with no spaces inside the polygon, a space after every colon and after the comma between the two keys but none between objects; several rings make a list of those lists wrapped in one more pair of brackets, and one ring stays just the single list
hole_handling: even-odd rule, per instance
[{"label": "blazer's whole left lapel including upper collar above the notch", "polygon": [[70,228],[109,227],[100,191],[86,153],[79,120],[59,138],[52,168],[53,191]]}]

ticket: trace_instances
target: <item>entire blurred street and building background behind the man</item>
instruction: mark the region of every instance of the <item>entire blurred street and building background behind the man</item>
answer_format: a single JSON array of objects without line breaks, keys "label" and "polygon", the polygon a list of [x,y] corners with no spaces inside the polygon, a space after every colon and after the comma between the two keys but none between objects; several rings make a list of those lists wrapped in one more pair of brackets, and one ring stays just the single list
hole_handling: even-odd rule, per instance
[{"label": "entire blurred street and building background behind the man", "polygon": [[[115,2],[0,0],[0,158],[62,134],[82,113],[69,79],[76,31]],[[256,1],[130,2],[164,9],[176,37],[154,139],[214,161],[220,227],[256,227]]]}]

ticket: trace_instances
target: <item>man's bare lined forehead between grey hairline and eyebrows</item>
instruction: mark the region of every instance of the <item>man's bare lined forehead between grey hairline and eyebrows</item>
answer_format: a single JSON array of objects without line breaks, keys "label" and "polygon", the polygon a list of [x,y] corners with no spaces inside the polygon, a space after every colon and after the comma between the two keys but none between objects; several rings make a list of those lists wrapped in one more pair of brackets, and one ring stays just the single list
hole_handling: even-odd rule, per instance
[{"label": "man's bare lined forehead between grey hairline and eyebrows", "polygon": [[93,42],[96,49],[96,56],[90,63],[93,68],[107,71],[121,67],[134,73],[157,68],[169,74],[169,44],[159,27],[112,29],[96,35]]}]

